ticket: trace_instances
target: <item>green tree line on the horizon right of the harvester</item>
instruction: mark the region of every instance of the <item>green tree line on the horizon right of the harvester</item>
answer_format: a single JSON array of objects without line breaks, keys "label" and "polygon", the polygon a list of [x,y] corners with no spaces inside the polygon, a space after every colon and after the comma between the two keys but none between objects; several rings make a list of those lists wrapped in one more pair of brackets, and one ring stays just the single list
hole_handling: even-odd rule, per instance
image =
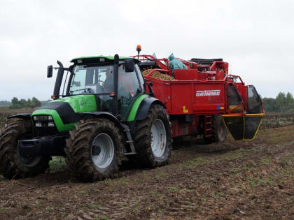
[{"label": "green tree line on the horizon right of the harvester", "polygon": [[294,98],[290,92],[279,92],[276,98],[262,98],[265,112],[294,112]]}]

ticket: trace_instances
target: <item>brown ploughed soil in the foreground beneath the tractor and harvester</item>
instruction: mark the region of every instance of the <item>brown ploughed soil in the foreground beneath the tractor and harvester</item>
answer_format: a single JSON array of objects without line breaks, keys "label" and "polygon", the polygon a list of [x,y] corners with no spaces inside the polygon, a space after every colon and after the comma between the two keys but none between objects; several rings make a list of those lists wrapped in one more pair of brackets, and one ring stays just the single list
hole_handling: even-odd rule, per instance
[{"label": "brown ploughed soil in the foreground beneath the tractor and harvester", "polygon": [[64,160],[55,157],[44,175],[13,181],[0,176],[0,216],[294,219],[294,125],[288,124],[262,129],[252,141],[174,140],[168,166],[148,170],[126,159],[116,179],[87,184],[71,178]]}]

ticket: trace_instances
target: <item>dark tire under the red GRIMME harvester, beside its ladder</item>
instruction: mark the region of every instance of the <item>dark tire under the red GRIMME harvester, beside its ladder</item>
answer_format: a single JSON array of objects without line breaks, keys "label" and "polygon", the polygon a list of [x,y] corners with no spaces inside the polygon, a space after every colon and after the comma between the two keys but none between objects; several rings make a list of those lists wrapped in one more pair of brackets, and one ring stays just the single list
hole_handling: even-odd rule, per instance
[{"label": "dark tire under the red GRIMME harvester, beside its ladder", "polygon": [[224,142],[227,139],[228,129],[220,115],[213,115],[211,128],[212,135],[208,138],[204,137],[205,143]]}]

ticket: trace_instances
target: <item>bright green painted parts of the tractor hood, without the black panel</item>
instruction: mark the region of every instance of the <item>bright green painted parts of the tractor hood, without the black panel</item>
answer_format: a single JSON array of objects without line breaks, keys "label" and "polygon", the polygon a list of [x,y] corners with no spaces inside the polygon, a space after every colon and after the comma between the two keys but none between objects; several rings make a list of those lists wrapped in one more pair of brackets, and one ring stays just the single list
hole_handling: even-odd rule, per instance
[{"label": "bright green painted parts of the tractor hood, without the black panel", "polygon": [[[67,96],[64,98],[58,98],[55,101],[63,101],[69,103],[69,105],[71,105],[71,108],[73,108],[73,111],[76,113],[97,111],[97,104],[94,95]],[[63,124],[62,119],[56,110],[36,110],[33,112],[32,116],[35,115],[51,115],[59,132],[69,131],[73,129],[73,124]]]}]

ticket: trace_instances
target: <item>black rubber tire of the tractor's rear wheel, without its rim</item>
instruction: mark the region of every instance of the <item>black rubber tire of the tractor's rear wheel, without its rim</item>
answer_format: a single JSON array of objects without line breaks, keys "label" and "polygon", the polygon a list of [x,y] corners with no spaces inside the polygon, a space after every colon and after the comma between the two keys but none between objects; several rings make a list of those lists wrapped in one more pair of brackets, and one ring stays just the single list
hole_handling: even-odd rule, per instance
[{"label": "black rubber tire of the tractor's rear wheel, without its rim", "polygon": [[[165,147],[161,151],[162,155],[156,156],[151,146],[151,138],[154,138],[151,128],[154,123],[160,124],[161,122],[165,128]],[[172,150],[172,130],[166,110],[161,105],[151,105],[146,119],[138,121],[136,126],[134,146],[137,154],[129,157],[130,161],[146,168],[157,168],[169,163]]]}]

